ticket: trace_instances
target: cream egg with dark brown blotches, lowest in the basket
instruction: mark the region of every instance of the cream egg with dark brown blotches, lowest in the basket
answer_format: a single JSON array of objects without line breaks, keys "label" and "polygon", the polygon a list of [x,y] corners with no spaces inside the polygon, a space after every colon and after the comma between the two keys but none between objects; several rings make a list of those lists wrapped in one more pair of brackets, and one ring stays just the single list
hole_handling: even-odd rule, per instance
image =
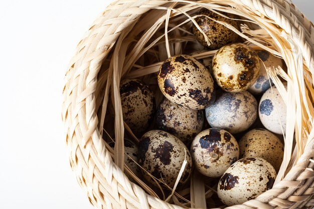
[{"label": "cream egg with dark brown blotches, lowest in the basket", "polygon": [[219,180],[217,193],[226,205],[242,204],[272,188],[277,174],[260,157],[246,157],[232,164]]}]

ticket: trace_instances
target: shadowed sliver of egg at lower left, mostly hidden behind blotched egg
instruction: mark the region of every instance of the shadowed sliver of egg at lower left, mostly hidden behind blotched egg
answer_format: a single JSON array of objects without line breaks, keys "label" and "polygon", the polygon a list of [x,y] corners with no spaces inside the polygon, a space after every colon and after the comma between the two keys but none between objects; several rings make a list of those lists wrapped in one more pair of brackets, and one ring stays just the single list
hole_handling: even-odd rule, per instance
[{"label": "shadowed sliver of egg at lower left, mostly hidden behind blotched egg", "polygon": [[[109,142],[108,144],[114,148],[113,141]],[[136,176],[140,176],[140,169],[136,164],[138,163],[137,150],[138,148],[134,142],[132,142],[130,139],[124,138],[124,162]]]}]

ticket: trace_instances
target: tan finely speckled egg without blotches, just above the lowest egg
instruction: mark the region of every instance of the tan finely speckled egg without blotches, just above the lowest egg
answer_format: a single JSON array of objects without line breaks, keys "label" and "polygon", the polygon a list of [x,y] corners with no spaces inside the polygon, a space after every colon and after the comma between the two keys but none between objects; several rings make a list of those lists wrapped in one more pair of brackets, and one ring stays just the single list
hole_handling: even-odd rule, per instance
[{"label": "tan finely speckled egg without blotches, just above the lowest egg", "polygon": [[266,129],[256,128],[247,132],[239,141],[240,158],[261,157],[279,171],[283,159],[283,144]]}]

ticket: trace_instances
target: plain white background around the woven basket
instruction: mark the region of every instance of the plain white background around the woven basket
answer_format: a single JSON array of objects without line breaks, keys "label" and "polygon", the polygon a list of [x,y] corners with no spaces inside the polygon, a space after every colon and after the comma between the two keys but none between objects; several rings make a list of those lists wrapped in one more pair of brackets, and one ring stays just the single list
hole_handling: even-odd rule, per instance
[{"label": "plain white background around the woven basket", "polygon": [[[310,20],[314,1],[295,0]],[[106,0],[0,0],[0,208],[93,208],[67,157],[62,88]]]}]

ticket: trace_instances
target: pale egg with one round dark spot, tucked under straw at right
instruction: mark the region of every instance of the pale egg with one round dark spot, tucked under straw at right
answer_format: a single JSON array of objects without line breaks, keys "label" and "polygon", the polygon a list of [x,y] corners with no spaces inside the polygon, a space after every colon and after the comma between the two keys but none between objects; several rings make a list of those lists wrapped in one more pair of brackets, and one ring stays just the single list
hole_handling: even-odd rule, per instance
[{"label": "pale egg with one round dark spot, tucked under straw at right", "polygon": [[[286,83],[284,86],[287,88]],[[285,133],[287,108],[275,86],[269,88],[263,94],[259,102],[258,114],[267,130],[276,134]]]}]

